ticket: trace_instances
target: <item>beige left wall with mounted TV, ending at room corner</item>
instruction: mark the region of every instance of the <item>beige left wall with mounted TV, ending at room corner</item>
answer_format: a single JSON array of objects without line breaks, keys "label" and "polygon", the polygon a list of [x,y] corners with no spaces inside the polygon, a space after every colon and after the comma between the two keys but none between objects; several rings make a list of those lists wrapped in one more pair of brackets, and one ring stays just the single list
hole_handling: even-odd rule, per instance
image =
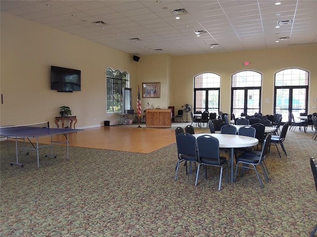
[{"label": "beige left wall with mounted TV, ending at room corner", "polygon": [[[1,12],[1,125],[25,124],[59,116],[69,106],[78,127],[117,123],[106,114],[106,67],[136,67],[131,55]],[[51,90],[51,65],[81,70],[81,91]]]}]

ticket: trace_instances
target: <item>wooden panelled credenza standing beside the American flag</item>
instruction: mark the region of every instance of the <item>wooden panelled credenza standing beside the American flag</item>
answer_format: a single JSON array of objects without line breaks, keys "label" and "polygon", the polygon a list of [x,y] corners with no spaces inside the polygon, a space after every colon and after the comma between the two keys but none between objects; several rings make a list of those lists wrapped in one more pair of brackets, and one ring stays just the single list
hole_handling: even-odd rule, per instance
[{"label": "wooden panelled credenza standing beside the American flag", "polygon": [[171,127],[170,109],[147,109],[147,127]]}]

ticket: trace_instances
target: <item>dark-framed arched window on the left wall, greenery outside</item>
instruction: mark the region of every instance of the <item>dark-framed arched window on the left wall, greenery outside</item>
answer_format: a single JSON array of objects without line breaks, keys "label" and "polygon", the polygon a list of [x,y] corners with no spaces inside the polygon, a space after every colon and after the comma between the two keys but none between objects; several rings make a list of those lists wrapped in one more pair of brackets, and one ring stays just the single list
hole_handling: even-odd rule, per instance
[{"label": "dark-framed arched window on the left wall, greenery outside", "polygon": [[119,70],[106,69],[106,113],[120,112],[122,88],[129,87],[128,74]]}]

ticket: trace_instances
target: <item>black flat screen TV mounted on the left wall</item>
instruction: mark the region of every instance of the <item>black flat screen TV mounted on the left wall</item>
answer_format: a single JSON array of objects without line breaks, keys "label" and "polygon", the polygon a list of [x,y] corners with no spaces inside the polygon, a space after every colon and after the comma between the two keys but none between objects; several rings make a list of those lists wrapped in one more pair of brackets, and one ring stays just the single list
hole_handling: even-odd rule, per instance
[{"label": "black flat screen TV mounted on the left wall", "polygon": [[51,89],[60,92],[80,91],[80,70],[51,66]]}]

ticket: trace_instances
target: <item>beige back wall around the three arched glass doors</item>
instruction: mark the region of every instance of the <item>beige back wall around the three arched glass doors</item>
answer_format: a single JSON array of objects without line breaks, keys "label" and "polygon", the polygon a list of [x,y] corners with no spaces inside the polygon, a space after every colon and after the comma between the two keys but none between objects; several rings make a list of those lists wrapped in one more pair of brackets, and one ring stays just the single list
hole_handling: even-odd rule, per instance
[{"label": "beige back wall around the three arched glass doors", "polygon": [[[244,62],[249,61],[249,66]],[[177,93],[170,100],[176,108],[185,103],[193,104],[193,77],[204,72],[221,76],[220,110],[230,112],[231,76],[239,71],[252,70],[262,74],[262,113],[273,113],[274,74],[282,69],[297,67],[310,72],[309,113],[317,106],[317,45],[272,48],[263,50],[188,55],[172,58],[171,88]],[[184,96],[186,95],[186,96]],[[265,103],[265,98],[269,103]]]}]

